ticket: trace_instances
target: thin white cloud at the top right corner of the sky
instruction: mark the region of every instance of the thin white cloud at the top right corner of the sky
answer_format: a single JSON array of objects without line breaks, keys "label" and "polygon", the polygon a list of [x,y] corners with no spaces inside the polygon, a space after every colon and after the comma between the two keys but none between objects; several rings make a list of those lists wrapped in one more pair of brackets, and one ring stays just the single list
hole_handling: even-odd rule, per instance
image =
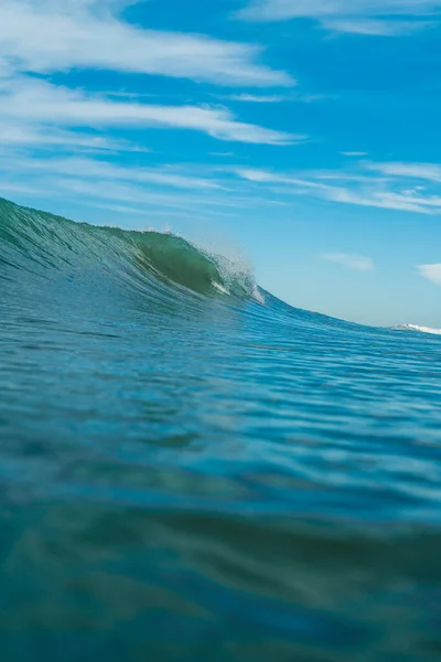
[{"label": "thin white cloud at the top right corner of the sky", "polygon": [[[426,28],[440,0],[254,0],[240,15],[255,21],[308,18],[338,32],[396,35]],[[418,20],[415,20],[418,19]]]}]

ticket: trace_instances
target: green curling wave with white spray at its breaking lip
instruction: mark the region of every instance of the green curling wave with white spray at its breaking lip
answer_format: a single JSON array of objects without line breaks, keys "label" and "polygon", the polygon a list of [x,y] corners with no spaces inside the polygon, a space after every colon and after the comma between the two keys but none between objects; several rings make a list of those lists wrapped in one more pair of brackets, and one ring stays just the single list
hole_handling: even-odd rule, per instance
[{"label": "green curling wave with white spray at its breaking lip", "polygon": [[211,253],[171,233],[75,223],[0,199],[0,264],[37,269],[46,277],[51,269],[80,277],[80,269],[85,273],[94,266],[138,285],[143,281],[151,287],[154,282],[204,296],[262,301],[245,260]]}]

